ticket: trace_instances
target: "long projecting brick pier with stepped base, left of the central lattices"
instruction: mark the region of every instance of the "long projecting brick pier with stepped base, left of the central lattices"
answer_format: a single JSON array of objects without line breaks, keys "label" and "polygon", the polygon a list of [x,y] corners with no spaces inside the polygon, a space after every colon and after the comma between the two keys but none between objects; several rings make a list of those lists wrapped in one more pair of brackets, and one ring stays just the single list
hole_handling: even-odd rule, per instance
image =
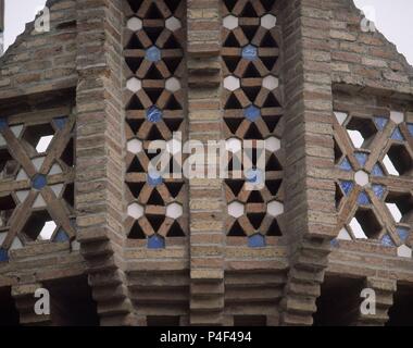
[{"label": "long projecting brick pier with stepped base, left of the central lattices", "polygon": [[124,135],[122,1],[77,1],[76,210],[102,325],[130,325],[122,270]]}]

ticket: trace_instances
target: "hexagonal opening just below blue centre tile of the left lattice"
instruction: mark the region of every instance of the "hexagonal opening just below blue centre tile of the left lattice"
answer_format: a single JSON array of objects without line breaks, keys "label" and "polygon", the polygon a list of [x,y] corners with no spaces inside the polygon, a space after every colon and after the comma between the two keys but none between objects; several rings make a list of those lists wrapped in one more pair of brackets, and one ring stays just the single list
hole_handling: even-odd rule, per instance
[{"label": "hexagonal opening just below blue centre tile of the left lattice", "polygon": [[32,241],[50,240],[57,224],[47,210],[35,211],[23,227],[24,235]]}]

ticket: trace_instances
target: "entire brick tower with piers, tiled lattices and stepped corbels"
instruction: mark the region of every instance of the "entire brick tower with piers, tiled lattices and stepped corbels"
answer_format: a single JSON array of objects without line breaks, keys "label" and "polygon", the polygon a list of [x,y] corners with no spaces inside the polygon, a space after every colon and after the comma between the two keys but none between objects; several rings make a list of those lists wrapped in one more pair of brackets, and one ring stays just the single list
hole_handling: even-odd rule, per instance
[{"label": "entire brick tower with piers, tiled lattices and stepped corbels", "polygon": [[[366,22],[49,0],[0,58],[0,325],[412,325],[413,69]],[[163,177],[155,140],[227,158]]]}]

